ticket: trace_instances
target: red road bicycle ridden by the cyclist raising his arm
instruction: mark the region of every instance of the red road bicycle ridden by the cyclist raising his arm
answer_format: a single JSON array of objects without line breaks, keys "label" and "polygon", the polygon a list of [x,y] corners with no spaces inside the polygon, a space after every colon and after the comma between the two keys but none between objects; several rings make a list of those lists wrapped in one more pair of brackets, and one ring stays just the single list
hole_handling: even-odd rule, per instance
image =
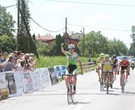
[{"label": "red road bicycle ridden by the cyclist raising his arm", "polygon": [[73,81],[74,81],[74,76],[73,74],[66,74],[64,76],[68,76],[67,80],[68,80],[68,89],[67,89],[67,102],[68,104],[73,103],[74,104],[74,85],[73,85]]}]

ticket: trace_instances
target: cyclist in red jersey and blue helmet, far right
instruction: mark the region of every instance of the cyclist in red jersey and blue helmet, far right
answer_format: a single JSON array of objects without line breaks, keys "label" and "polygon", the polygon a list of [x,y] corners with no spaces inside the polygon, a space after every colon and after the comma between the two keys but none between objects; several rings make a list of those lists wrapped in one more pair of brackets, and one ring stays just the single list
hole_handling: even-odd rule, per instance
[{"label": "cyclist in red jersey and blue helmet, far right", "polygon": [[[119,63],[119,69],[120,70],[120,82],[121,82],[121,77],[122,77],[122,71],[124,71],[126,69],[126,80],[125,83],[128,80],[128,75],[130,75],[130,62],[128,60],[127,56],[123,56],[120,63]],[[121,83],[120,83],[121,84]]]}]

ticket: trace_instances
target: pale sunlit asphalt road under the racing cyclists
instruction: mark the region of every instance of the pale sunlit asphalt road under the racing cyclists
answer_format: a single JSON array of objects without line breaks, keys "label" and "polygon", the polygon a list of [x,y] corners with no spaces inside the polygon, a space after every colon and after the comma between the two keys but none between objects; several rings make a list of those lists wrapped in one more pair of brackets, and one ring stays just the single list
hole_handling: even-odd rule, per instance
[{"label": "pale sunlit asphalt road under the racing cyclists", "polygon": [[0,101],[0,110],[135,110],[135,70],[131,70],[125,93],[121,93],[119,75],[113,89],[99,90],[95,71],[78,75],[75,104],[67,104],[64,81],[54,86]]}]

